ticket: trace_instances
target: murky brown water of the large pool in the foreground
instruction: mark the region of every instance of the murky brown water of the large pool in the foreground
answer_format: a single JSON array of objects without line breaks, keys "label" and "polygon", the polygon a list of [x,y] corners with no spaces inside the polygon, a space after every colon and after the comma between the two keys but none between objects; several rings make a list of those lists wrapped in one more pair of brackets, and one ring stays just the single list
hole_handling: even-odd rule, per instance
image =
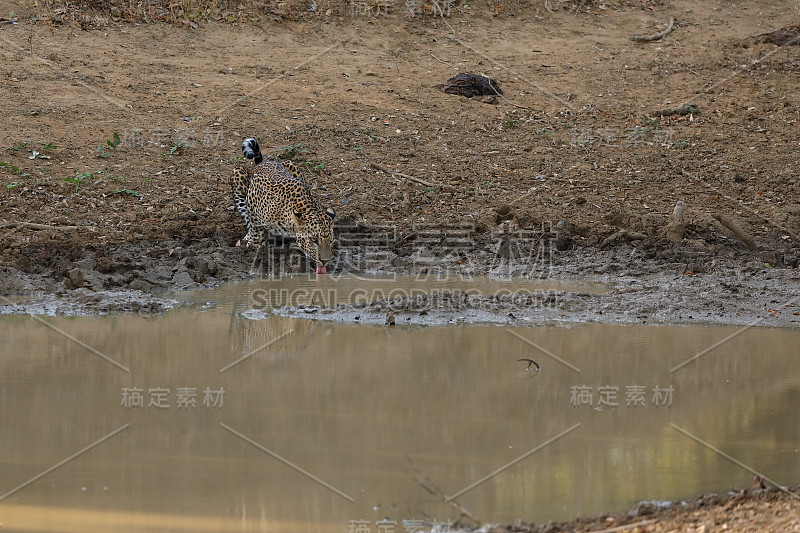
[{"label": "murky brown water of the large pool in the foreground", "polygon": [[714,448],[800,480],[798,331],[248,318],[274,285],[153,318],[0,318],[3,529],[457,518],[424,476],[481,520],[540,523],[749,486]]}]

